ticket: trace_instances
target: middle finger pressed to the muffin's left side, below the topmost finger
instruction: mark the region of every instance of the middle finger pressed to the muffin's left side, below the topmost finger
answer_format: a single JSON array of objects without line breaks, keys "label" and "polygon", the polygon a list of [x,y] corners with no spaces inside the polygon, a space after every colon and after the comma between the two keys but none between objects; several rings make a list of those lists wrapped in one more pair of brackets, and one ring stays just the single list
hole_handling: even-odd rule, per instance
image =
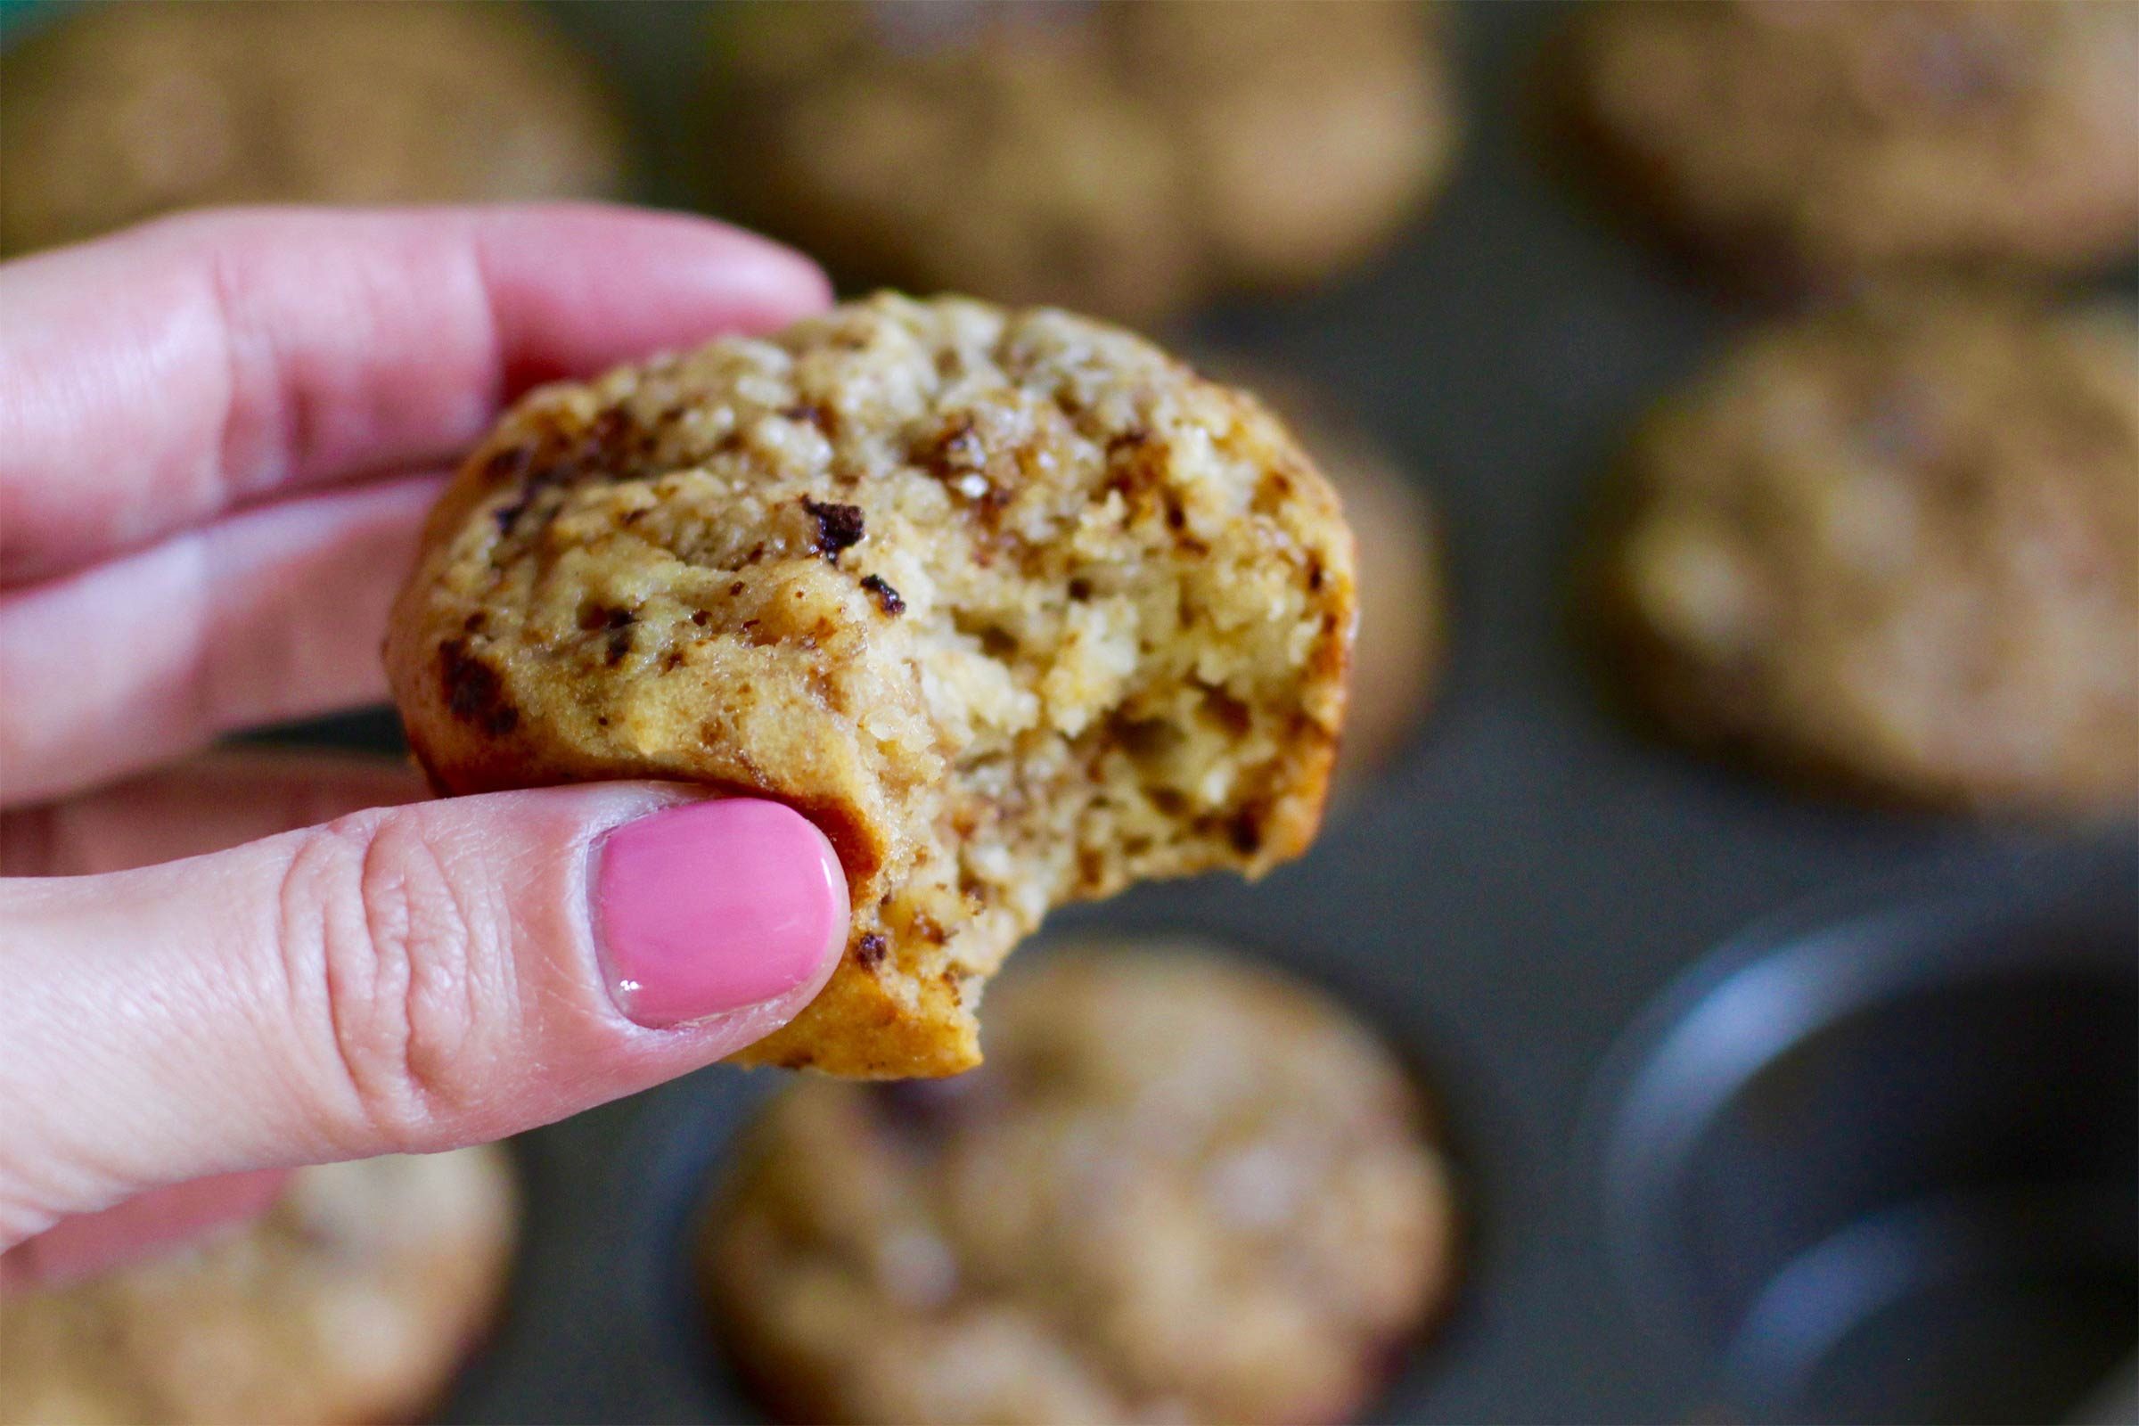
[{"label": "middle finger pressed to the muffin's left side, below the topmost finger", "polygon": [[284,500],[0,594],[0,804],[385,697],[432,479]]}]

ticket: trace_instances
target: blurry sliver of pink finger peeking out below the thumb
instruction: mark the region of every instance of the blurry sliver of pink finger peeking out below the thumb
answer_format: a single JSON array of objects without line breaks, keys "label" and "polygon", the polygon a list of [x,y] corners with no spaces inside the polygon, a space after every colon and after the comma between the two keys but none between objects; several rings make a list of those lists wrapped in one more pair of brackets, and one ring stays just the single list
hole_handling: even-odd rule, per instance
[{"label": "blurry sliver of pink finger peeking out below the thumb", "polygon": [[287,1169],[218,1174],[64,1219],[0,1253],[0,1291],[60,1287],[175,1249],[216,1227],[257,1219],[287,1182]]}]

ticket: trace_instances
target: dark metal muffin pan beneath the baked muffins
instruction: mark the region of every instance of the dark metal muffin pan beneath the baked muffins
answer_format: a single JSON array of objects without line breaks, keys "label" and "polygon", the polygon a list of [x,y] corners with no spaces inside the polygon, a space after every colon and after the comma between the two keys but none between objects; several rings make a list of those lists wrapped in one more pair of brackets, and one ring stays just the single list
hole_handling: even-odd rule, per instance
[{"label": "dark metal muffin pan beneath the baked muffins", "polygon": [[[650,197],[689,203],[710,17],[556,11],[663,135]],[[1375,1420],[2043,1420],[2133,1345],[2139,838],[1842,806],[1615,718],[1568,631],[1591,481],[1756,312],[1557,175],[1559,6],[1461,19],[1469,133],[1410,239],[1166,334],[1320,383],[1427,485],[1440,706],[1303,864],[1050,932],[1230,941],[1429,1069],[1467,1281]],[[398,746],[383,714],[282,735]],[[520,1140],[518,1289],[447,1420],[757,1420],[684,1231],[774,1086],[710,1069]]]}]

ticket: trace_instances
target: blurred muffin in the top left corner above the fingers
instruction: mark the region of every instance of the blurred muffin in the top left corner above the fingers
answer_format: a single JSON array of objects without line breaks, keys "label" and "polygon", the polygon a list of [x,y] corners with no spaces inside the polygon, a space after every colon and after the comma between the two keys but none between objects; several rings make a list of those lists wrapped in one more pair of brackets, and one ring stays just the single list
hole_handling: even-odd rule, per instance
[{"label": "blurred muffin in the top left corner above the fingers", "polygon": [[207,203],[622,192],[593,71],[518,4],[88,4],[0,68],[6,252]]}]

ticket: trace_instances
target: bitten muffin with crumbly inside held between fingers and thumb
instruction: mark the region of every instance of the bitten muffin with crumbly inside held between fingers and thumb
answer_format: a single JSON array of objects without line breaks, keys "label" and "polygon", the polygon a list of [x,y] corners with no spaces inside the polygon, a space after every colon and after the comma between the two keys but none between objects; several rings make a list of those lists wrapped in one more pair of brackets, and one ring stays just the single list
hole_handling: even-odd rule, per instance
[{"label": "bitten muffin with crumbly inside held between fingers and thumb", "polygon": [[1251,398],[1065,312],[883,295],[522,402],[387,673],[445,791],[815,819],[853,934],[744,1058],[939,1075],[1048,906],[1305,851],[1352,626],[1337,498]]}]

